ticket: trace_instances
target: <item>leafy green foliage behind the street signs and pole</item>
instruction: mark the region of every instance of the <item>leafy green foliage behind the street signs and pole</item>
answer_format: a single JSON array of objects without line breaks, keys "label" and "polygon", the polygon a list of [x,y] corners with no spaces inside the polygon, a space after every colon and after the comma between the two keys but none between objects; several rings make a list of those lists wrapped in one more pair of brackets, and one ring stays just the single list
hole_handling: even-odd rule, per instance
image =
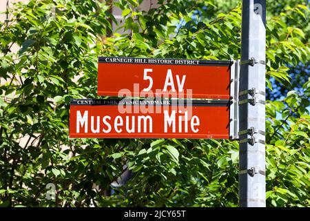
[{"label": "leafy green foliage behind the street signs and pole", "polygon": [[[1,206],[238,206],[236,141],[68,138],[70,99],[98,97],[99,56],[240,59],[240,1],[159,2],[148,12],[114,3],[123,35],[110,1],[30,0],[3,12]],[[310,206],[306,3],[267,1],[267,206]],[[123,165],[131,179],[112,186]]]}]

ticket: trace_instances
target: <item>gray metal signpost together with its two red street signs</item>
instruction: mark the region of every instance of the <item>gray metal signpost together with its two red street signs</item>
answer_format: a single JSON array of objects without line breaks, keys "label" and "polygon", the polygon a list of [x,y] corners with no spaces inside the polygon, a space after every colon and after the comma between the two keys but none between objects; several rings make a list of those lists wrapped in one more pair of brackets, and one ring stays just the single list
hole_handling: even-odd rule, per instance
[{"label": "gray metal signpost together with its two red street signs", "polygon": [[239,139],[240,206],[265,206],[265,9],[242,1],[240,61],[99,57],[98,95],[125,98],[72,99],[70,137]]}]

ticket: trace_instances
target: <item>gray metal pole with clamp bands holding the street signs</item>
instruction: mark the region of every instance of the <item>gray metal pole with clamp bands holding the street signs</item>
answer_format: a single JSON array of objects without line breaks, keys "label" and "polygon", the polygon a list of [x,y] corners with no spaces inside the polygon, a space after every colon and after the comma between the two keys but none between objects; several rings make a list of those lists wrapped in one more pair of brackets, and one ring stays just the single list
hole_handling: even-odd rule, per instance
[{"label": "gray metal pole with clamp bands holding the street signs", "polygon": [[266,206],[265,41],[266,0],[242,0],[239,89],[239,204]]}]

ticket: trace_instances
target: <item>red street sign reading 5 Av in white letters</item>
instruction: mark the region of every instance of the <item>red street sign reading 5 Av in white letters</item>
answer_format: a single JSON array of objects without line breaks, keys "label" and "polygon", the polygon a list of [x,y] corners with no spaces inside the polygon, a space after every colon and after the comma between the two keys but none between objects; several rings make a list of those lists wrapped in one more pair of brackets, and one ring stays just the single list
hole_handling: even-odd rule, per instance
[{"label": "red street sign reading 5 Av in white letters", "polygon": [[229,99],[231,61],[99,57],[98,95]]}]

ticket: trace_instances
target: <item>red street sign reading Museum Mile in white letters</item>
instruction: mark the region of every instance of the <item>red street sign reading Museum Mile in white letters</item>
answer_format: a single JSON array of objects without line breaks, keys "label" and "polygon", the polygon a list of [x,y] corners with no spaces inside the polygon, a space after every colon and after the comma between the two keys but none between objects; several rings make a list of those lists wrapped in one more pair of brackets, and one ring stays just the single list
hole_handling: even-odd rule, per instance
[{"label": "red street sign reading Museum Mile in white letters", "polygon": [[72,99],[70,137],[228,139],[228,102]]}]

